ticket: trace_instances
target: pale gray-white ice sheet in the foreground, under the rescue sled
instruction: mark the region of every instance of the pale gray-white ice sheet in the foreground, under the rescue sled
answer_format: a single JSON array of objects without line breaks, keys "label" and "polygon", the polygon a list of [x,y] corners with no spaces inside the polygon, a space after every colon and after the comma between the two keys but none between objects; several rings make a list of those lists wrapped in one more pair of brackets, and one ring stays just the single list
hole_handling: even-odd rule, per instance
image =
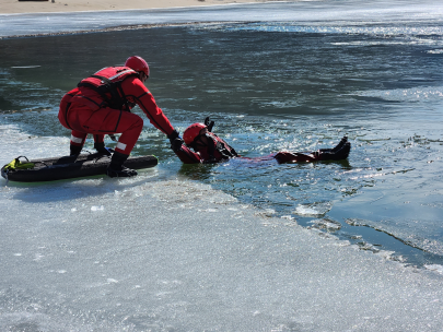
[{"label": "pale gray-white ice sheet in the foreground, under the rescue sled", "polygon": [[[37,150],[36,157],[61,154],[68,142],[1,129],[3,142],[22,153]],[[15,154],[0,147],[1,164]],[[441,265],[405,268],[291,217],[268,217],[207,185],[170,178],[162,165],[133,179],[0,185],[0,330],[436,331],[442,324]]]}]

